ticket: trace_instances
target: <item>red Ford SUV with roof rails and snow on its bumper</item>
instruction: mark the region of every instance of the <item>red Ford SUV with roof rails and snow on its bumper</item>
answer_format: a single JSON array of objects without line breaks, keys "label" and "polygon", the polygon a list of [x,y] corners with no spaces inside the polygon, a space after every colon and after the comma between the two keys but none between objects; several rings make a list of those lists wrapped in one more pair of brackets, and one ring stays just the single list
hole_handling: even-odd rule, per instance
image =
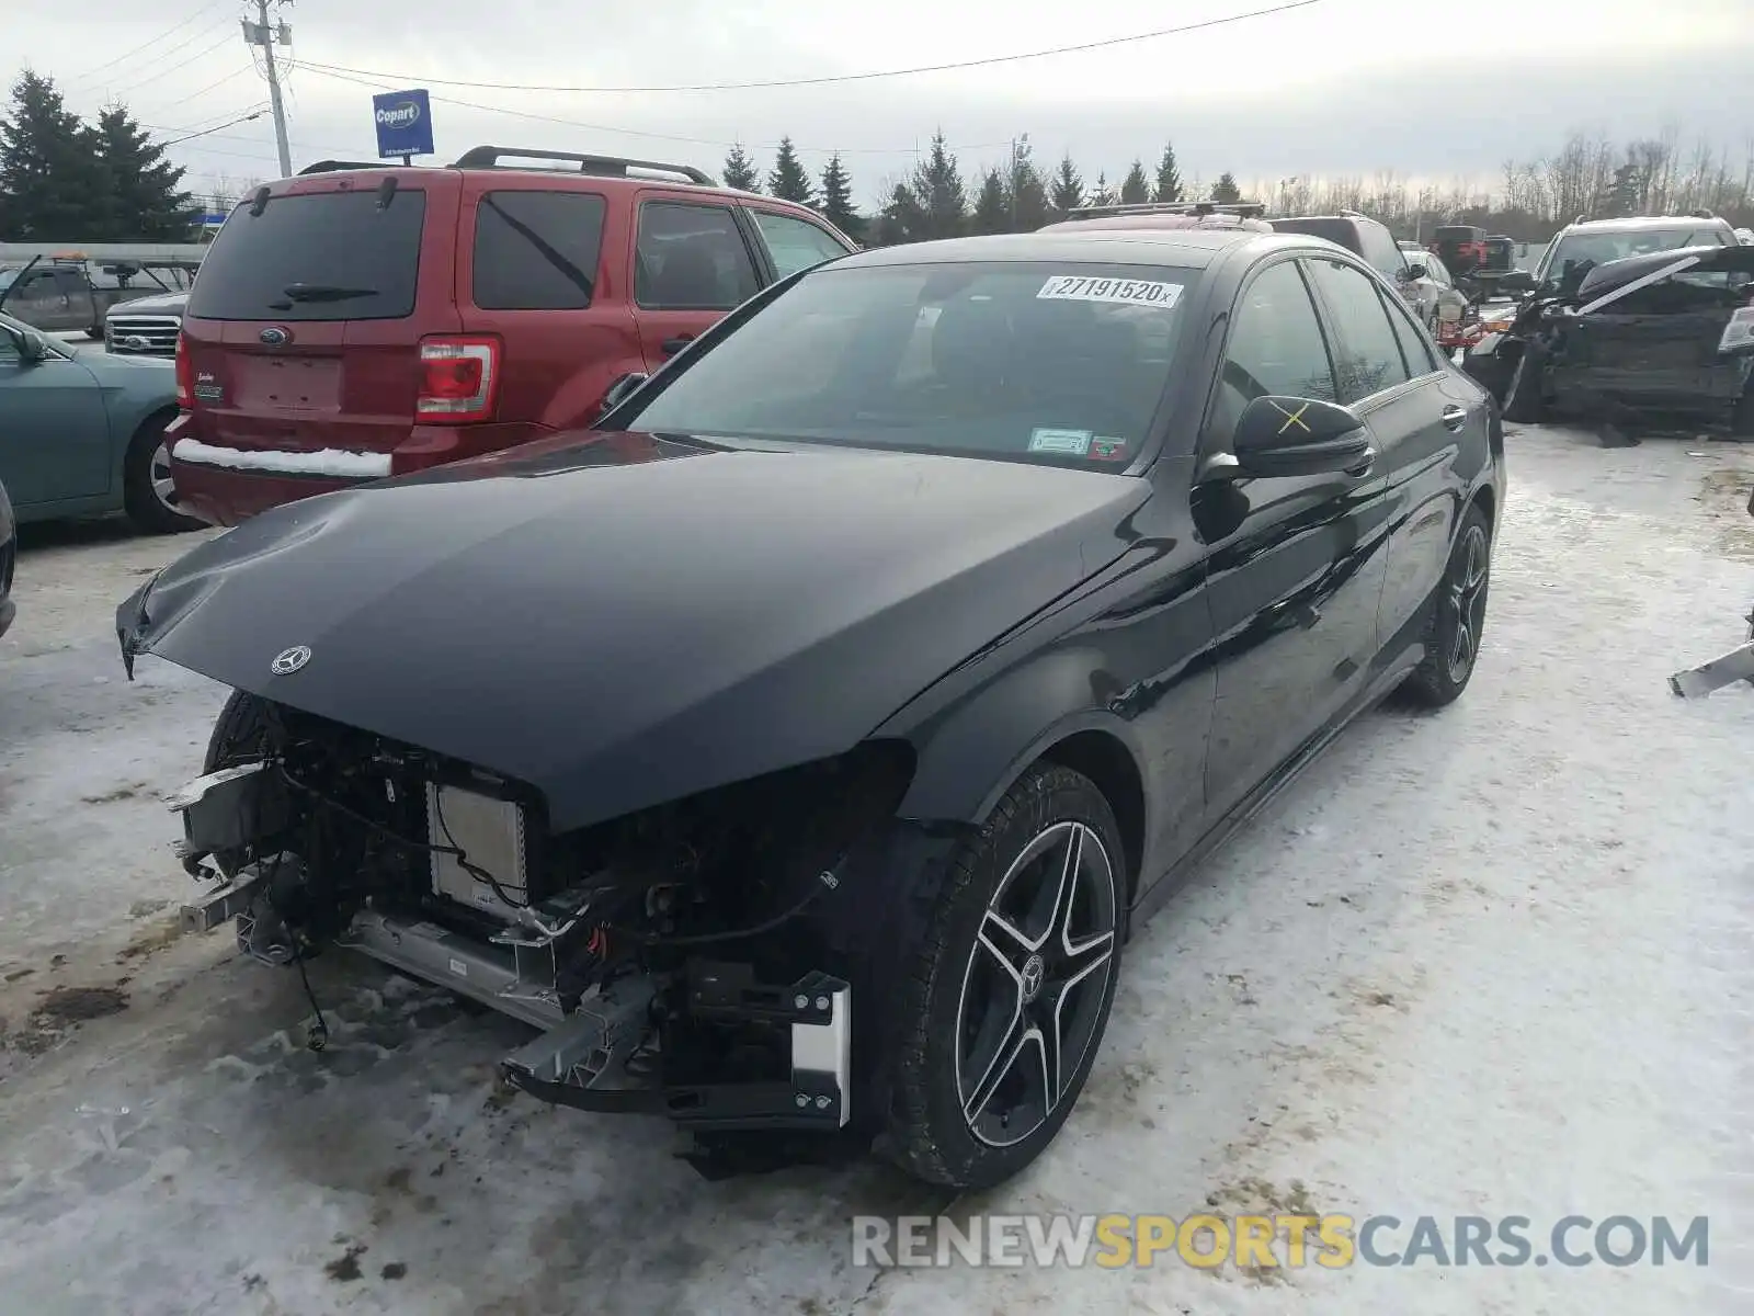
[{"label": "red Ford SUV with roof rails and snow on its bumper", "polygon": [[237,525],[589,425],[617,379],[854,249],[686,165],[491,146],[446,168],[312,165],[240,202],[202,261],[177,493]]}]

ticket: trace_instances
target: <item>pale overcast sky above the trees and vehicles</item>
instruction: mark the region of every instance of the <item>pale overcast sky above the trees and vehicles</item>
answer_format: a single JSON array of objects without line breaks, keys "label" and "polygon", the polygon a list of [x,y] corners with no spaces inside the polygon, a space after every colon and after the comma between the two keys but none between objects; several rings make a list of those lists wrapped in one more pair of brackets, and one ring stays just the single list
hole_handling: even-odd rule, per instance
[{"label": "pale overcast sky above the trees and vehicles", "polygon": [[[838,149],[866,205],[940,126],[965,172],[1002,161],[1009,140],[1028,133],[1044,163],[1070,151],[1087,181],[1098,170],[1119,181],[1135,156],[1154,161],[1165,139],[1184,175],[1207,182],[1223,170],[1244,182],[1377,170],[1491,182],[1505,158],[1538,156],[1568,130],[1629,139],[1665,125],[1687,140],[1710,135],[1740,170],[1754,140],[1754,0],[1317,0],[1100,51],[772,89],[435,81],[628,88],[826,77],[1093,42],[1272,4],[296,0],[279,12],[293,28],[282,49],[293,63],[293,168],[374,158],[372,91],[409,86],[435,97],[444,160],[493,142],[717,174],[730,142],[745,142],[766,168],[789,133],[812,174]],[[30,51],[81,114],[125,100],[170,139],[267,104],[237,26],[240,0],[84,0],[79,23],[46,4],[0,0],[0,9],[5,49]],[[372,74],[342,81],[319,65]],[[267,114],[172,154],[202,186],[279,172]]]}]

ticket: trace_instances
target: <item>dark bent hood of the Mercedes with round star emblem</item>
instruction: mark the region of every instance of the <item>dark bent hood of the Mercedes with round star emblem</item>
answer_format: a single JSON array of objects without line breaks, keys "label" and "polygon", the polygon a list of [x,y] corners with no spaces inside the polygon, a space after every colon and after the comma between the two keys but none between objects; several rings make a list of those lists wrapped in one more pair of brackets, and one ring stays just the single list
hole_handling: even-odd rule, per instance
[{"label": "dark bent hood of the Mercedes with round star emblem", "polygon": [[570,830],[851,749],[1119,556],[1147,488],[589,433],[256,516],[118,632],[130,665],[535,786]]}]

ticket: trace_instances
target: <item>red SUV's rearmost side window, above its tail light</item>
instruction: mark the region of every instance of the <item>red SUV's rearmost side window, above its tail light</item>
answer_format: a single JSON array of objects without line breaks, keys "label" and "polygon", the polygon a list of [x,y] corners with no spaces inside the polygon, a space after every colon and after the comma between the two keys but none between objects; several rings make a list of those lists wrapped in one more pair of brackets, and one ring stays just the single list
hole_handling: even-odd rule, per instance
[{"label": "red SUV's rearmost side window, above its tail light", "polygon": [[475,305],[482,311],[582,311],[596,290],[602,249],[602,197],[489,191],[475,209]]}]

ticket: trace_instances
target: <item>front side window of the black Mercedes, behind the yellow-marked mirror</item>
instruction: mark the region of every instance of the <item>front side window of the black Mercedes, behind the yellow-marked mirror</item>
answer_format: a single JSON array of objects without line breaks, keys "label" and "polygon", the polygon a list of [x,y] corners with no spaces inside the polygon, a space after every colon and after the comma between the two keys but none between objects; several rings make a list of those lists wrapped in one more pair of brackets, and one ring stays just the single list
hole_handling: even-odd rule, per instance
[{"label": "front side window of the black Mercedes, behind the yellow-marked mirror", "polygon": [[1337,398],[1321,321],[1289,260],[1268,265],[1237,302],[1209,435],[1228,442],[1244,409],[1265,397]]}]

